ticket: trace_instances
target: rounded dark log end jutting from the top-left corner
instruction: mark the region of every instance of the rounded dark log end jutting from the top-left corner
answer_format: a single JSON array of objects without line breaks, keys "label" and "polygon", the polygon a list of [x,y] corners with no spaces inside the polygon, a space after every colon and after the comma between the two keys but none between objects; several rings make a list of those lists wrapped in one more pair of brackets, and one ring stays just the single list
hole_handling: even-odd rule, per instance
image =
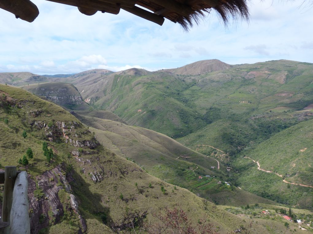
[{"label": "rounded dark log end jutting from the top-left corner", "polygon": [[0,0],[0,8],[27,22],[33,22],[39,15],[38,8],[29,0]]}]

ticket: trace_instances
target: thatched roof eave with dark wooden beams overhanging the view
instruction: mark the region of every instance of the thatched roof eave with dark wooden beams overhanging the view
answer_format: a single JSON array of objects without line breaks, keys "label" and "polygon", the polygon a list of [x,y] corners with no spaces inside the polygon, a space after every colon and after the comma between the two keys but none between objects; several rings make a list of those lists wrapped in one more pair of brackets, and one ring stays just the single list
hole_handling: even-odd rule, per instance
[{"label": "thatched roof eave with dark wooden beams overhanging the view", "polygon": [[[97,11],[118,14],[120,9],[162,25],[164,18],[177,22],[184,29],[208,14],[211,9],[218,12],[226,24],[229,17],[248,19],[246,0],[48,0],[78,7],[86,15]],[[140,6],[140,7],[138,7]],[[33,22],[39,11],[29,0],[0,0],[0,8],[12,12],[17,18]],[[145,8],[145,9],[144,9]],[[147,10],[146,10],[147,9]]]}]

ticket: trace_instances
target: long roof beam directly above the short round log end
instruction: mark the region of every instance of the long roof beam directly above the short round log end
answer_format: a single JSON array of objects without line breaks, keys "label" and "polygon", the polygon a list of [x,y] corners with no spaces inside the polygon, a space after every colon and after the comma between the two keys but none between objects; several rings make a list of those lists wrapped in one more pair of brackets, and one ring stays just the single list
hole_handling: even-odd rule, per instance
[{"label": "long roof beam directly above the short round log end", "polygon": [[47,0],[50,2],[62,3],[74,7],[83,7],[98,10],[101,12],[108,12],[117,15],[120,12],[121,7],[116,4],[110,4],[98,0]]}]

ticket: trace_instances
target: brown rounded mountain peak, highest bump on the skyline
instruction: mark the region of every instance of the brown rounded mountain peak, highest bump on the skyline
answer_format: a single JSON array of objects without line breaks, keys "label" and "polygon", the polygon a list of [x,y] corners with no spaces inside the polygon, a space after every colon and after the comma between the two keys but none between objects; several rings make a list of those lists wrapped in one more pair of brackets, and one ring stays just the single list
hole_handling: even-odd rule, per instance
[{"label": "brown rounded mountain peak, highest bump on the skyline", "polygon": [[213,71],[229,69],[231,67],[233,67],[233,65],[229,65],[217,59],[210,59],[194,62],[178,68],[163,69],[162,72],[169,72],[175,75],[198,76]]}]

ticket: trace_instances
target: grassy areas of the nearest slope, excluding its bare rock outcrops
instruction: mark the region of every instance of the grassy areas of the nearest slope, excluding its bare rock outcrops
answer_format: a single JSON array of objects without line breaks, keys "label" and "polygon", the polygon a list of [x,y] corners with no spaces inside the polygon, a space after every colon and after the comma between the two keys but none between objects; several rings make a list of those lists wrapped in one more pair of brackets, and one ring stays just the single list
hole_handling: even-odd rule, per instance
[{"label": "grassy areas of the nearest slope, excluding its bare rock outcrops", "polygon": [[[65,123],[76,121],[78,127],[72,134],[69,134],[71,139],[75,139],[77,135],[80,140],[92,140],[92,134],[79,120],[57,105],[40,100],[21,89],[0,85],[0,90],[0,119],[2,120],[0,123],[1,129],[6,129],[1,134],[0,162],[2,166],[17,165],[18,158],[29,145],[32,146],[35,153],[34,159],[30,160],[30,165],[27,168],[28,173],[31,175],[40,175],[45,170],[49,170],[61,162],[67,164],[71,168],[67,173],[74,179],[71,186],[74,194],[79,199],[80,211],[86,218],[88,233],[103,232],[101,229],[105,226],[100,222],[99,216],[96,215],[99,212],[107,212],[110,218],[118,220],[121,213],[125,211],[126,206],[139,211],[148,210],[151,214],[154,209],[165,206],[172,207],[176,203],[182,206],[195,222],[204,213],[208,213],[211,222],[218,225],[222,233],[231,231],[243,224],[240,217],[223,211],[210,202],[205,202],[205,200],[186,189],[177,188],[177,190],[171,192],[172,185],[150,176],[135,163],[116,156],[101,146],[98,146],[95,150],[83,149],[83,152],[93,152],[93,154],[83,154],[78,161],[67,156],[69,151],[74,150],[74,146],[65,144],[65,139],[55,139],[53,142],[49,142],[49,146],[54,147],[55,152],[58,152],[56,153],[57,156],[51,165],[46,165],[44,156],[40,152],[42,139],[45,138],[44,132],[42,129],[38,130],[30,127],[29,124],[34,120],[45,123],[52,121],[52,119],[55,122],[64,121]],[[8,102],[11,104],[10,106],[16,104],[16,107],[9,107]],[[33,116],[30,110],[42,110],[42,112],[38,116]],[[5,119],[8,119],[8,124],[4,122]],[[26,129],[28,132],[26,139],[21,136],[22,129]],[[8,144],[7,139],[10,139],[10,144]],[[100,167],[103,167],[105,179],[100,183],[94,183],[90,179],[89,173],[94,173],[95,170],[99,171]],[[138,184],[137,187],[135,182]],[[149,183],[152,184],[151,188],[148,188]],[[161,185],[166,189],[166,194],[162,194]],[[65,193],[62,189],[60,191]],[[61,201],[68,202],[66,196],[62,197],[62,193],[59,192]],[[130,200],[128,202],[122,201],[119,198],[121,193],[124,198]],[[148,215],[148,219],[150,218],[150,215]],[[57,233],[62,230],[62,233],[72,233],[75,227],[71,226],[69,221],[67,218],[61,219],[59,224],[52,225],[45,232]]]}]

